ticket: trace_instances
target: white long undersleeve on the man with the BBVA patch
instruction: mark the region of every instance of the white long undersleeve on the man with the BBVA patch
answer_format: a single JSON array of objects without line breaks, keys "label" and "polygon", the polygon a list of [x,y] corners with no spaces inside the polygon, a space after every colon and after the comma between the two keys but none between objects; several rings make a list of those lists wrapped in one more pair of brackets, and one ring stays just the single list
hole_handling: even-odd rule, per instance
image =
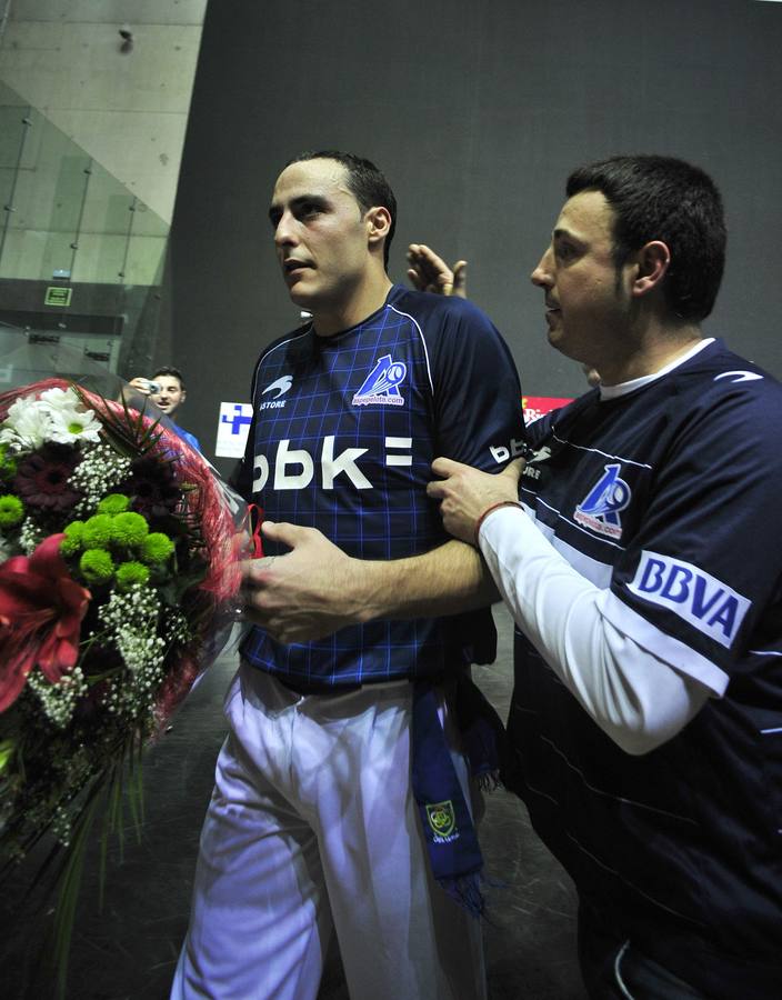
[{"label": "white long undersleeve on the man with the BBVA patch", "polygon": [[489,514],[479,544],[519,628],[622,750],[648,753],[703,707],[710,690],[611,624],[601,613],[610,591],[574,570],[521,507]]}]

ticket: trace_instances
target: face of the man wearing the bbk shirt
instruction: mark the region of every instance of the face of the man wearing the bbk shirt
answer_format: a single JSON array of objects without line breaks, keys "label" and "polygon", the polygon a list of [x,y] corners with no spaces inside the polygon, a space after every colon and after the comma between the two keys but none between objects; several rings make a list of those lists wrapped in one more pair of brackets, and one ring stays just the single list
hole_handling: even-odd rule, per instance
[{"label": "face of the man wearing the bbk shirt", "polygon": [[277,179],[269,218],[291,299],[315,317],[339,312],[371,260],[345,168],[325,159],[291,163]]}]

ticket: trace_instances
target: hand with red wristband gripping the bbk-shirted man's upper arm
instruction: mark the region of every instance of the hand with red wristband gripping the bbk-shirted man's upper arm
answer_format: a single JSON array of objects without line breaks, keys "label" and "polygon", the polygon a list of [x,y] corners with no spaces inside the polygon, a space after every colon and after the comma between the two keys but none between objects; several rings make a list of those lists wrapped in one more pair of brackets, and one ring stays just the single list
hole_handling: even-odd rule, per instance
[{"label": "hand with red wristband gripping the bbk-shirted man's upper arm", "polygon": [[442,478],[430,482],[427,493],[440,501],[445,530],[474,546],[481,514],[497,503],[518,501],[524,464],[524,459],[515,459],[502,472],[492,474],[452,459],[434,459],[432,472]]}]

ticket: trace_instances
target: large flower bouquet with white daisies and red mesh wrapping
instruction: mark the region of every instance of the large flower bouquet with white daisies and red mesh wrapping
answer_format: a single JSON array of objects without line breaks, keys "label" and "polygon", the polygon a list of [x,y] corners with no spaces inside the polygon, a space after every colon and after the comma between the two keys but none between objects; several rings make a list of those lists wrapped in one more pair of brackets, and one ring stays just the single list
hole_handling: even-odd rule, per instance
[{"label": "large flower bouquet with white daisies and red mesh wrapping", "polygon": [[60,962],[92,820],[230,632],[244,517],[143,409],[0,396],[0,857],[66,849]]}]

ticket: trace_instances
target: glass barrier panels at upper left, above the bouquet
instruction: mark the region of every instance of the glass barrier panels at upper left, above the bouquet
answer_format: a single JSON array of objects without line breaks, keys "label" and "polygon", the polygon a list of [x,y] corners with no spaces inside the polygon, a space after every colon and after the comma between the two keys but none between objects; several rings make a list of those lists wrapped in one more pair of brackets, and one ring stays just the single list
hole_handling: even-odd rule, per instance
[{"label": "glass barrier panels at upper left, above the bouquet", "polygon": [[[52,372],[102,378],[150,356],[168,223],[0,83],[3,204],[0,391]],[[49,301],[51,287],[70,301]]]}]

